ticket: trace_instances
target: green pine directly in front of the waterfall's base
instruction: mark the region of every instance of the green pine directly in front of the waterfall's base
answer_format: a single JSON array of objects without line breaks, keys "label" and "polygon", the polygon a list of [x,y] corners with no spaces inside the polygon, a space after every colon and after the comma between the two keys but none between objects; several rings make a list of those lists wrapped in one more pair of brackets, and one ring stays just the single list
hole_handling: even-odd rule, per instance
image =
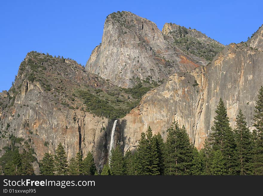
[{"label": "green pine directly in front of the waterfall's base", "polygon": [[117,145],[115,149],[111,149],[109,165],[111,175],[124,175],[125,165],[120,145]]}]

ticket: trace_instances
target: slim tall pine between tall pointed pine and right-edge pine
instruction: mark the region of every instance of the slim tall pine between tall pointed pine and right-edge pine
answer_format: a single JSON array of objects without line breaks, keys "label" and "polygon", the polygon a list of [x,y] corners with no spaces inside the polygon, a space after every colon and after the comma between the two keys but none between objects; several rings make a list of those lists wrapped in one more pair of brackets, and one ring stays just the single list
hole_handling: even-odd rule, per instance
[{"label": "slim tall pine between tall pointed pine and right-edge pine", "polygon": [[252,159],[252,134],[247,128],[246,118],[241,110],[239,110],[236,119],[235,141],[236,152],[238,155],[238,167],[237,172],[240,175],[247,175],[251,173],[251,159]]}]

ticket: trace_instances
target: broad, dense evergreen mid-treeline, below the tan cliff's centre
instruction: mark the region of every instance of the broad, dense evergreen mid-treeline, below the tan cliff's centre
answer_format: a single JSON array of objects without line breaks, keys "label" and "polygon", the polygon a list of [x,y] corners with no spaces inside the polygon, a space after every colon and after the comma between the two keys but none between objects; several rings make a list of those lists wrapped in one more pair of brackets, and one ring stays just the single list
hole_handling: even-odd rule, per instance
[{"label": "broad, dense evergreen mid-treeline, below the tan cliff's centre", "polygon": [[166,175],[189,175],[193,158],[193,146],[189,141],[186,129],[181,129],[178,122],[173,122],[168,129],[165,145],[164,173]]}]

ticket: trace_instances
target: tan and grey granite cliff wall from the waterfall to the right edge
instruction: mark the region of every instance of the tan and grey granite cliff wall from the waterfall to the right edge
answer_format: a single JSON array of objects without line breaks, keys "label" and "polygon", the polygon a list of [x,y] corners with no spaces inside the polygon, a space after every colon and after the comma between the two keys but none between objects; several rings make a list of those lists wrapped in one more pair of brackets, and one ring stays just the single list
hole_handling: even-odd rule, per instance
[{"label": "tan and grey granite cliff wall from the waterfall to the right edge", "polygon": [[[211,133],[220,98],[227,107],[232,128],[241,109],[252,129],[255,101],[263,84],[262,28],[253,40],[230,44],[207,67],[189,73],[177,72],[165,84],[144,95],[140,105],[123,118],[126,121],[125,149],[137,146],[141,132],[148,126],[165,138],[174,119],[186,126],[192,143],[202,148]],[[258,50],[247,46],[251,43]]]}]

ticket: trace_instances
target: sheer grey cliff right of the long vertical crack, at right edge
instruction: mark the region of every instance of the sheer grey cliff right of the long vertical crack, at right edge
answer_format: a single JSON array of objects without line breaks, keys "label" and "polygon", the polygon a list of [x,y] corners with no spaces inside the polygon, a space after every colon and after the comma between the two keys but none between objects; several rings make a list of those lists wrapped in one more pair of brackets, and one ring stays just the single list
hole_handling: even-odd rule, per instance
[{"label": "sheer grey cliff right of the long vertical crack, at right edge", "polygon": [[[261,38],[263,39],[263,38]],[[259,46],[260,47],[260,46]],[[230,44],[207,67],[208,89],[204,107],[204,129],[211,130],[215,116],[213,106],[220,98],[225,101],[232,127],[236,124],[238,110],[246,116],[252,128],[257,93],[263,84],[263,51],[246,46],[246,43]]]}]

